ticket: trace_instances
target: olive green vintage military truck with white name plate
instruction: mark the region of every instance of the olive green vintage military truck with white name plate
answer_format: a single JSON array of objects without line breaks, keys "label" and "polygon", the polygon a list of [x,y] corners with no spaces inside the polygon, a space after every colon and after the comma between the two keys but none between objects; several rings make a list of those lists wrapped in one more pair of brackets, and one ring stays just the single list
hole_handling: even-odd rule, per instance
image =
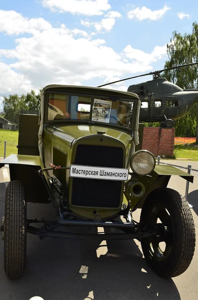
[{"label": "olive green vintage military truck with white name plate", "polygon": [[[140,104],[132,92],[48,85],[39,117],[20,115],[18,154],[0,163],[10,172],[1,222],[9,278],[24,271],[27,232],[41,239],[136,238],[160,276],[188,268],[195,250],[192,213],[185,198],[167,185],[171,175],[191,182],[193,176],[156,165],[151,152],[138,148]],[[51,203],[57,220],[27,219],[28,202],[46,208]],[[137,208],[139,221],[132,216]],[[69,232],[70,226],[76,232]],[[103,227],[106,233],[80,234],[79,226]],[[119,230],[108,233],[108,227]]]}]

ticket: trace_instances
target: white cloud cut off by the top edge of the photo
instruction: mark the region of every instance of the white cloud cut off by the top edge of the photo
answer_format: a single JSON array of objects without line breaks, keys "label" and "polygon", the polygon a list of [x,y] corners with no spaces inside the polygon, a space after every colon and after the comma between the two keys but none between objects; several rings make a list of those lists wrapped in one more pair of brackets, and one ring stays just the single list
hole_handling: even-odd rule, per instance
[{"label": "white cloud cut off by the top edge of the photo", "polygon": [[52,11],[84,15],[102,15],[111,8],[108,0],[42,0],[42,4]]}]

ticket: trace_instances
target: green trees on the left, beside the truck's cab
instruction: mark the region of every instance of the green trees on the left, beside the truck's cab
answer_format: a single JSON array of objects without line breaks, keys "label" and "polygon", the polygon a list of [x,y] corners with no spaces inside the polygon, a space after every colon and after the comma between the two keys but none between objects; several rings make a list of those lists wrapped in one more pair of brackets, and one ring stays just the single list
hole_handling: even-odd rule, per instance
[{"label": "green trees on the left, beside the truck's cab", "polygon": [[3,97],[4,118],[18,125],[20,113],[36,113],[40,106],[41,90],[39,90],[38,94],[32,89],[26,95],[18,96],[17,94],[12,94],[8,97]]}]

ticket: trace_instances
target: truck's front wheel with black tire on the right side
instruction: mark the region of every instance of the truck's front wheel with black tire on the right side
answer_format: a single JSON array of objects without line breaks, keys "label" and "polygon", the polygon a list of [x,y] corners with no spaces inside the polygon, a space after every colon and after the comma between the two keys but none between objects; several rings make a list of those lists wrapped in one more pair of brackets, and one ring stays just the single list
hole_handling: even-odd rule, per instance
[{"label": "truck's front wheel with black tire on the right side", "polygon": [[[175,277],[189,267],[195,251],[195,225],[186,199],[176,190],[154,190],[143,204],[140,221],[143,224],[161,222],[166,233],[141,240],[148,265],[161,277]],[[166,243],[161,249],[160,242]]]}]

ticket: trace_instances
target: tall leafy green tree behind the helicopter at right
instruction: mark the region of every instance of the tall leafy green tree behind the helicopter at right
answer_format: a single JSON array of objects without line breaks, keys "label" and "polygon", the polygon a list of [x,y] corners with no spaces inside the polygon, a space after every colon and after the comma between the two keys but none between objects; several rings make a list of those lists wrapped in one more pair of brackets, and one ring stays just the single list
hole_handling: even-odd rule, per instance
[{"label": "tall leafy green tree behind the helicopter at right", "polygon": [[[198,61],[198,23],[193,23],[192,33],[174,31],[167,44],[169,60],[164,68]],[[167,80],[184,89],[198,88],[198,65],[186,66],[163,73]],[[196,130],[197,128],[197,130]],[[177,121],[176,136],[196,136],[198,142],[198,104],[190,112]]]}]

